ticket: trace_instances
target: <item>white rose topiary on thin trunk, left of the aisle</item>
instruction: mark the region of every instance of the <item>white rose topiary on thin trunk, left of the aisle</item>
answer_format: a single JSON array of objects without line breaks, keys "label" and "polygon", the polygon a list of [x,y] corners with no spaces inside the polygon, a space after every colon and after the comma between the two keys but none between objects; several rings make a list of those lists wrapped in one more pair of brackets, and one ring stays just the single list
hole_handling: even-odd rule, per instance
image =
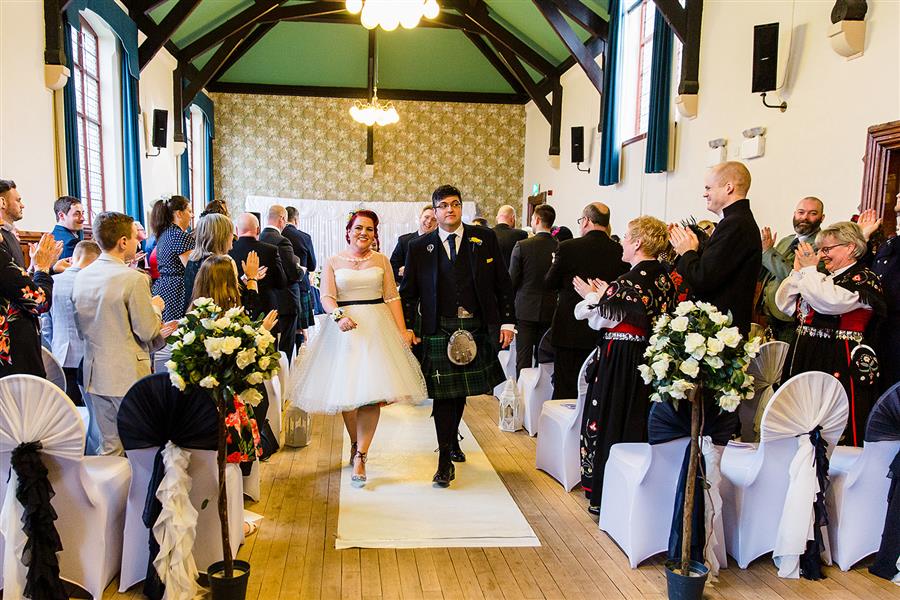
[{"label": "white rose topiary on thin trunk, left of the aisle", "polygon": [[[179,390],[208,389],[219,410],[219,519],[222,547],[228,540],[225,493],[225,419],[238,404],[256,406],[263,396],[259,387],[278,371],[280,358],[275,338],[251,319],[243,307],[223,311],[209,298],[197,298],[169,338],[172,359],[166,363],[172,385]],[[231,552],[224,553],[225,576],[231,577]]]}]

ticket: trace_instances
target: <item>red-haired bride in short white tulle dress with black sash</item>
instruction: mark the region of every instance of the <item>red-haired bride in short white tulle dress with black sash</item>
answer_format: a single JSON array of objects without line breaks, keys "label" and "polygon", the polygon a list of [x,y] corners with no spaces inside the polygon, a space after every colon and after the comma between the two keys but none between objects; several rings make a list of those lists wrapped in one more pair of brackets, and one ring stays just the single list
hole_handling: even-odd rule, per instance
[{"label": "red-haired bride in short white tulle dress with black sash", "polygon": [[351,213],[347,249],[322,272],[322,306],[331,313],[300,363],[292,403],[310,413],[341,411],[350,434],[351,483],[366,483],[366,456],[381,406],[427,398],[409,350],[400,296],[387,257],[374,250],[378,215]]}]

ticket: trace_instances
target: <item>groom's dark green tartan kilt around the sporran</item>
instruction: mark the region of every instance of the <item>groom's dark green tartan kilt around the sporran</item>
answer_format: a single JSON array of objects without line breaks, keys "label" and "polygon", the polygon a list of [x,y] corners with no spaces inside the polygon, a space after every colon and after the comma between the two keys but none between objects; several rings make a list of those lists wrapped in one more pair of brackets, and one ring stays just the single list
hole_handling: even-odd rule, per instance
[{"label": "groom's dark green tartan kilt around the sporran", "polygon": [[[447,356],[447,343],[457,329],[471,332],[478,348],[475,359],[464,366],[454,365]],[[434,400],[490,394],[506,379],[487,329],[479,319],[441,317],[439,331],[424,336],[422,346],[422,373],[428,397]]]}]

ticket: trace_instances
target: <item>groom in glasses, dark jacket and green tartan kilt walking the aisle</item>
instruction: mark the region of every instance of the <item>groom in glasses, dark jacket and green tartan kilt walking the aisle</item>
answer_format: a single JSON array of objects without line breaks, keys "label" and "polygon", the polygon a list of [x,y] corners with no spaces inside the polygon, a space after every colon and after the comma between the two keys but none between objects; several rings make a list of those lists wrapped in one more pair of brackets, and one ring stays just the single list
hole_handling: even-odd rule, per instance
[{"label": "groom in glasses, dark jacket and green tartan kilt walking the aisle", "polygon": [[[466,396],[491,393],[503,381],[497,351],[512,342],[516,318],[496,234],[463,225],[462,195],[451,185],[436,189],[431,204],[438,229],[410,241],[400,297],[407,340],[424,343],[422,372],[434,399],[440,451],[433,481],[448,487],[456,476],[453,462],[466,460],[457,439]],[[421,340],[412,331],[419,312]],[[459,343],[453,359],[451,338]]]}]

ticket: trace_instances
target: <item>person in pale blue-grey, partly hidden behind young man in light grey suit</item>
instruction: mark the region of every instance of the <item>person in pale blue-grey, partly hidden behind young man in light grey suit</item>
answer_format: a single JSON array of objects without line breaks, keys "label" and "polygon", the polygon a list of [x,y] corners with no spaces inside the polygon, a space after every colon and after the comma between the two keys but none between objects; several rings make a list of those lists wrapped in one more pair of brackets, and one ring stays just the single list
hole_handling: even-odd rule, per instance
[{"label": "person in pale blue-grey, partly hidden behind young man in light grey suit", "polygon": [[76,405],[81,406],[81,390],[78,388],[78,365],[84,358],[84,341],[75,324],[75,301],[72,292],[75,276],[100,256],[100,246],[93,240],[84,240],[75,245],[72,266],[53,276],[53,303],[50,312],[41,316],[46,323],[46,336],[50,351],[62,365],[66,374],[66,393]]}]

